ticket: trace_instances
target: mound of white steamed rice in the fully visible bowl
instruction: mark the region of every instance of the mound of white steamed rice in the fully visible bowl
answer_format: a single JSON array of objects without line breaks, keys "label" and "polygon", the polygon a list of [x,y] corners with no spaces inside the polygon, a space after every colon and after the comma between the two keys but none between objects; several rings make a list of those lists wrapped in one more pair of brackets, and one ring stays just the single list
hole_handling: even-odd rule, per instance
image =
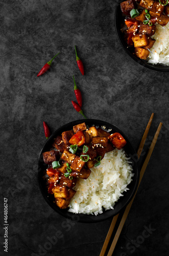
[{"label": "mound of white steamed rice in the fully visible bowl", "polygon": [[102,207],[113,209],[134,176],[129,159],[123,149],[106,153],[101,164],[91,168],[87,180],[77,179],[69,211],[98,215],[102,214]]}]

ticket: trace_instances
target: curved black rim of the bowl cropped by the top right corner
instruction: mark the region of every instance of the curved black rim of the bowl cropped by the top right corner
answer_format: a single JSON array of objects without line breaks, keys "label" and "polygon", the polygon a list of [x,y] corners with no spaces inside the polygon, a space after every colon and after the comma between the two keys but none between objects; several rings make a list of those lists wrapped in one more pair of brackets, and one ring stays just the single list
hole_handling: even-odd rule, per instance
[{"label": "curved black rim of the bowl cropped by the top right corner", "polygon": [[[137,58],[134,54],[132,54],[126,46],[126,43],[124,41],[122,32],[120,31],[118,25],[119,25],[119,10],[120,10],[120,3],[124,2],[124,0],[117,0],[116,3],[116,9],[115,9],[115,29],[116,29],[116,34],[118,36],[119,41],[121,42],[121,45],[123,46],[125,52],[138,64],[144,66],[145,68],[155,70],[155,71],[160,71],[160,72],[169,72],[169,66],[163,66],[160,64],[153,65],[151,63],[148,63],[146,60],[142,60]],[[122,17],[122,15],[121,15]],[[121,23],[122,24],[122,23]]]}]

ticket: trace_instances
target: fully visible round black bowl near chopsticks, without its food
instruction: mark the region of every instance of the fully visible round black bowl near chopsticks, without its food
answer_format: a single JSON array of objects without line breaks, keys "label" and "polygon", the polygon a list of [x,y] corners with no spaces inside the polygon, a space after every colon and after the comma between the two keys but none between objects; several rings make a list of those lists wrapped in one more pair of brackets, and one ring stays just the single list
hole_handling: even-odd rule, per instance
[{"label": "fully visible round black bowl near chopsticks, without its food", "polygon": [[[99,214],[97,216],[95,216],[95,215],[85,215],[85,214],[73,214],[72,212],[69,212],[67,209],[60,209],[53,202],[54,201],[53,195],[49,195],[47,193],[46,183],[43,179],[43,176],[45,174],[45,170],[47,168],[47,165],[43,162],[42,153],[50,150],[50,148],[52,147],[53,139],[55,137],[57,137],[58,135],[61,135],[62,132],[64,132],[64,131],[71,130],[73,128],[73,125],[76,125],[76,124],[82,123],[82,122],[85,122],[89,126],[92,126],[92,125],[106,126],[107,130],[112,129],[111,133],[114,133],[114,132],[121,133],[122,136],[127,141],[127,144],[125,145],[124,150],[125,150],[126,154],[131,157],[132,167],[133,167],[133,172],[134,172],[133,180],[128,185],[128,188],[130,190],[123,193],[124,196],[121,197],[118,200],[118,202],[116,202],[113,210],[112,209],[106,210],[106,211],[103,210],[103,213]],[[120,212],[120,210],[122,210],[122,208],[124,208],[130,202],[130,200],[132,199],[132,197],[133,197],[133,195],[136,191],[136,188],[137,188],[137,185],[138,185],[138,180],[139,180],[138,158],[137,158],[137,154],[136,154],[130,140],[116,126],[114,126],[112,124],[109,124],[107,122],[100,121],[100,120],[95,120],[95,119],[77,120],[77,121],[67,123],[67,124],[63,125],[62,127],[60,127],[45,142],[45,144],[42,147],[42,150],[40,151],[39,157],[38,157],[37,178],[38,178],[39,187],[40,187],[40,190],[41,190],[41,193],[42,193],[44,199],[56,212],[58,212],[58,214],[61,214],[62,216],[66,217],[66,218],[69,218],[73,221],[84,222],[84,223],[98,222],[98,221],[103,221],[103,220],[108,219],[109,217],[113,217],[113,216],[117,215]]]}]

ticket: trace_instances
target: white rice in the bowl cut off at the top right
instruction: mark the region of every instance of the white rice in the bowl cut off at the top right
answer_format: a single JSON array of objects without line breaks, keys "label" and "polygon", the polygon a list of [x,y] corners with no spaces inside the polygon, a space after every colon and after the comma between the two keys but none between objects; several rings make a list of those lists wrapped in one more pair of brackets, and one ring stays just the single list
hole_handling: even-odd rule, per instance
[{"label": "white rice in the bowl cut off at the top right", "polygon": [[156,32],[151,38],[156,41],[150,49],[152,53],[149,54],[148,63],[169,66],[169,23],[165,27],[156,24]]}]

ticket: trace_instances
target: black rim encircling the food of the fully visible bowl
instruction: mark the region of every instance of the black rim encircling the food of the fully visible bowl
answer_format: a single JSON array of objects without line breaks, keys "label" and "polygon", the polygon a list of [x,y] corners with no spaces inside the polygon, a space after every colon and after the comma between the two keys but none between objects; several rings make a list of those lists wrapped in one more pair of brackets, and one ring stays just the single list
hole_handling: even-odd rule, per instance
[{"label": "black rim encircling the food of the fully visible bowl", "polygon": [[[118,211],[110,209],[110,210],[103,211],[102,214],[99,214],[97,216],[84,215],[84,214],[75,215],[72,212],[60,209],[58,206],[53,204],[53,202],[51,202],[51,200],[49,200],[49,198],[48,198],[48,196],[46,194],[47,189],[45,190],[44,189],[44,185],[42,184],[42,177],[43,176],[42,176],[42,174],[40,172],[44,172],[44,169],[46,167],[46,165],[44,165],[44,162],[42,160],[40,161],[40,159],[42,159],[42,153],[46,151],[46,148],[47,148],[47,150],[50,150],[51,145],[52,145],[52,140],[55,138],[55,136],[60,135],[62,131],[66,131],[67,127],[72,127],[73,128],[73,124],[76,125],[77,123],[82,123],[82,122],[86,122],[87,125],[88,124],[89,125],[93,124],[93,125],[96,125],[96,126],[101,126],[101,124],[102,124],[102,125],[105,125],[107,127],[111,127],[114,131],[117,131],[117,132],[121,133],[122,136],[124,136],[125,139],[127,140],[129,148],[131,147],[132,153],[137,157],[136,152],[134,150],[134,147],[132,146],[130,140],[128,139],[128,137],[118,127],[116,127],[115,125],[112,125],[110,123],[107,123],[105,121],[101,121],[101,120],[97,120],[97,119],[81,119],[81,120],[75,120],[75,121],[69,122],[69,123],[67,123],[65,125],[62,125],[61,127],[59,127],[59,129],[57,129],[54,133],[51,134],[51,136],[48,138],[48,140],[46,140],[46,142],[42,146],[41,151],[39,153],[36,172],[37,172],[37,179],[38,179],[38,184],[39,184],[39,188],[40,188],[41,194],[42,194],[42,196],[44,197],[45,201],[49,204],[49,206],[51,208],[53,208],[57,213],[61,214],[62,216],[66,217],[66,218],[69,218],[69,219],[73,218],[73,221],[78,221],[78,222],[83,222],[83,223],[94,223],[94,222],[99,222],[99,221],[106,220],[106,219],[108,219],[110,217],[113,217],[113,216],[117,215],[130,202],[130,200],[132,199],[132,197],[133,197],[133,195],[134,195],[134,193],[136,191],[136,188],[137,188],[137,185],[138,185],[138,181],[139,181],[139,165],[138,165],[138,159],[136,159],[136,161],[134,163],[134,166],[135,166],[135,169],[134,169],[134,172],[135,172],[135,174],[134,174],[134,176],[135,176],[134,177],[135,183],[132,183],[132,182],[134,182],[134,181],[132,181],[131,182],[132,183],[132,189],[127,191],[128,195],[126,193],[126,194],[124,194],[123,197],[121,197],[121,198],[125,198],[126,197],[128,199],[125,201],[125,203],[123,203],[122,207]],[[43,164],[43,168],[41,168],[42,164]],[[129,195],[129,194],[131,194],[131,195]],[[119,201],[120,201],[120,199],[119,199]],[[118,202],[115,204],[115,209],[117,207],[116,205],[118,205]],[[75,218],[73,216],[79,216],[79,218]]]}]

